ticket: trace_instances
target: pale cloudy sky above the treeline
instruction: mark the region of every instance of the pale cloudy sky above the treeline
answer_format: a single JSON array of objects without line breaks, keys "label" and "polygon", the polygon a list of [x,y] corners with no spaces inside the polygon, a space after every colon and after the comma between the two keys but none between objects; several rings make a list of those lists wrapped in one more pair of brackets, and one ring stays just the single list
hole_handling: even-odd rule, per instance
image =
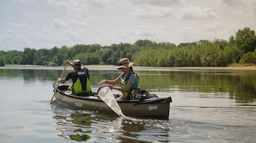
[{"label": "pale cloudy sky above the treeline", "polygon": [[256,30],[255,0],[1,0],[0,50],[228,40]]}]

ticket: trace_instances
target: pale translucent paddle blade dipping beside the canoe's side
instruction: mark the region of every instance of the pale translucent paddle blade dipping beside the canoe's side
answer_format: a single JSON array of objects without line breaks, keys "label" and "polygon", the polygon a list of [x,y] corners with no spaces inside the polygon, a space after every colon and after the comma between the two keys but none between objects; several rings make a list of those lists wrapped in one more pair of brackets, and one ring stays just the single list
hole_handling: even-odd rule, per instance
[{"label": "pale translucent paddle blade dipping beside the canoe's side", "polygon": [[114,95],[109,87],[101,87],[98,90],[98,96],[101,100],[103,100],[117,115],[123,116],[122,110],[119,107],[118,103],[116,102],[116,99],[114,98]]}]

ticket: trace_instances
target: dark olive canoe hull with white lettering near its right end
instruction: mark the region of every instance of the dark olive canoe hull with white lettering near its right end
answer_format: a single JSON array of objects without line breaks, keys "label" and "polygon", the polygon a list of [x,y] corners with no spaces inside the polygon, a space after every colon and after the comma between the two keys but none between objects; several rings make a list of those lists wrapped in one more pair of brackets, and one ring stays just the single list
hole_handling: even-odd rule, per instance
[{"label": "dark olive canoe hull with white lettering near its right end", "polygon": [[[115,113],[98,96],[81,97],[75,95],[66,95],[63,92],[56,92],[57,101],[66,103],[85,110],[99,111],[107,114]],[[118,101],[118,104],[124,115],[130,117],[168,119],[170,112],[171,97],[145,100]]]}]

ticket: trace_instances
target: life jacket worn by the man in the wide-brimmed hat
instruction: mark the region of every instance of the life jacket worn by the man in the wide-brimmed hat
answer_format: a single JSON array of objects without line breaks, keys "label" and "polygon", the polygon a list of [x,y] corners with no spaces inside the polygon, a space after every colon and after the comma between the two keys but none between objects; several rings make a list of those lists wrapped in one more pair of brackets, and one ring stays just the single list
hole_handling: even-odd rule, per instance
[{"label": "life jacket worn by the man in the wide-brimmed hat", "polygon": [[136,73],[134,73],[133,71],[130,71],[127,76],[125,76],[125,74],[123,74],[123,75],[121,76],[121,85],[122,85],[122,86],[126,86],[127,83],[128,83],[129,77],[130,77],[132,74],[135,74],[135,76],[136,76],[136,78],[137,78],[137,80],[138,80],[138,84],[137,84],[137,87],[134,87],[134,85],[132,85],[132,90],[131,90],[131,91],[129,91],[129,92],[123,92],[123,95],[124,95],[124,97],[125,97],[127,100],[134,99],[134,97],[135,97],[135,91],[136,91],[137,89],[139,89],[139,76],[138,76]]}]

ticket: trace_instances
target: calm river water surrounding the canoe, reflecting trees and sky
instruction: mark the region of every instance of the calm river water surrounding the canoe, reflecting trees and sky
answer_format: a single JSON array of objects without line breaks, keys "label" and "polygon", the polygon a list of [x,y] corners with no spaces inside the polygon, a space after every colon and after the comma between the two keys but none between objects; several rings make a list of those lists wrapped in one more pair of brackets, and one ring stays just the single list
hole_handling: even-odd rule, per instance
[{"label": "calm river water surrounding the canoe, reflecting trees and sky", "polygon": [[[172,96],[169,120],[50,104],[61,68],[0,68],[1,143],[255,143],[256,71],[139,71],[143,88]],[[93,90],[118,71],[91,71]]]}]

